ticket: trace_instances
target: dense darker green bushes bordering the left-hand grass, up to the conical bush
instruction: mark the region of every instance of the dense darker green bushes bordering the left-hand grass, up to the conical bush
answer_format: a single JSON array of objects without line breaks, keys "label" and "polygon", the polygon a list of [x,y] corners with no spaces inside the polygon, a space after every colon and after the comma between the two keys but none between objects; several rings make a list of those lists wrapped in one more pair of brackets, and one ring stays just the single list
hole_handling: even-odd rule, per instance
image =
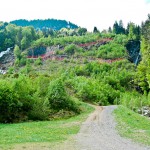
[{"label": "dense darker green bushes bordering the left-hand grass, up to the conical bush", "polygon": [[50,112],[62,109],[79,113],[79,105],[67,95],[63,82],[53,80],[25,75],[1,79],[0,122],[47,120]]}]

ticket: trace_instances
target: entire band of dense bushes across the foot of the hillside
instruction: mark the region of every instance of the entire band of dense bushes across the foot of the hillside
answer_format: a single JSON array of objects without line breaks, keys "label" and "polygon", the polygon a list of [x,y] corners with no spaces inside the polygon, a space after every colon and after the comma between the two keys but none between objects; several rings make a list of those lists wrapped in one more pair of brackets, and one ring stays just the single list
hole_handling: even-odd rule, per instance
[{"label": "entire band of dense bushes across the foot of the hillside", "polygon": [[79,113],[73,97],[99,105],[126,104],[123,93],[131,90],[135,74],[127,60],[91,61],[59,70],[50,76],[30,73],[1,79],[0,108],[7,111],[0,114],[0,122],[47,120],[61,111]]}]

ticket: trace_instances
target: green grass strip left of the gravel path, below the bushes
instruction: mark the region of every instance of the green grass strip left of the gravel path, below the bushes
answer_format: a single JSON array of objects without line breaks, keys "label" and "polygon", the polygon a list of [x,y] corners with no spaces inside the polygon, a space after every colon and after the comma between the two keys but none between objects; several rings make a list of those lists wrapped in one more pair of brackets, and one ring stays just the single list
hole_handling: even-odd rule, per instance
[{"label": "green grass strip left of the gravel path, below the bushes", "polygon": [[81,123],[94,110],[83,103],[83,113],[64,120],[0,124],[0,149],[12,149],[18,144],[64,142],[78,133]]}]

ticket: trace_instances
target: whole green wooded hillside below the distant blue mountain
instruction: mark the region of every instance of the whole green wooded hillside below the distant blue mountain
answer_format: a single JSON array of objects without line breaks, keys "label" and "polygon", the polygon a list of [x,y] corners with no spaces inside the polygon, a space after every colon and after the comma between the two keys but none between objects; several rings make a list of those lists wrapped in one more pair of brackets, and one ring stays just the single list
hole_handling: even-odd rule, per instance
[{"label": "whole green wooded hillside below the distant blue mountain", "polygon": [[136,112],[149,106],[149,19],[141,27],[115,22],[102,32],[1,22],[0,50],[13,47],[15,61],[0,76],[0,122],[77,115],[81,101]]}]

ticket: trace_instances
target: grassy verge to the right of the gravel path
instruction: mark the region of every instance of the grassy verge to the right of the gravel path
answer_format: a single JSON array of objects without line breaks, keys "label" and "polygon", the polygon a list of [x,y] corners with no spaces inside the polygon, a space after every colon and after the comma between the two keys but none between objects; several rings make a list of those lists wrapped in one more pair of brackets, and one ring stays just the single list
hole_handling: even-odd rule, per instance
[{"label": "grassy verge to the right of the gravel path", "polygon": [[117,129],[121,136],[131,138],[135,142],[150,145],[150,119],[119,106],[115,111]]}]

